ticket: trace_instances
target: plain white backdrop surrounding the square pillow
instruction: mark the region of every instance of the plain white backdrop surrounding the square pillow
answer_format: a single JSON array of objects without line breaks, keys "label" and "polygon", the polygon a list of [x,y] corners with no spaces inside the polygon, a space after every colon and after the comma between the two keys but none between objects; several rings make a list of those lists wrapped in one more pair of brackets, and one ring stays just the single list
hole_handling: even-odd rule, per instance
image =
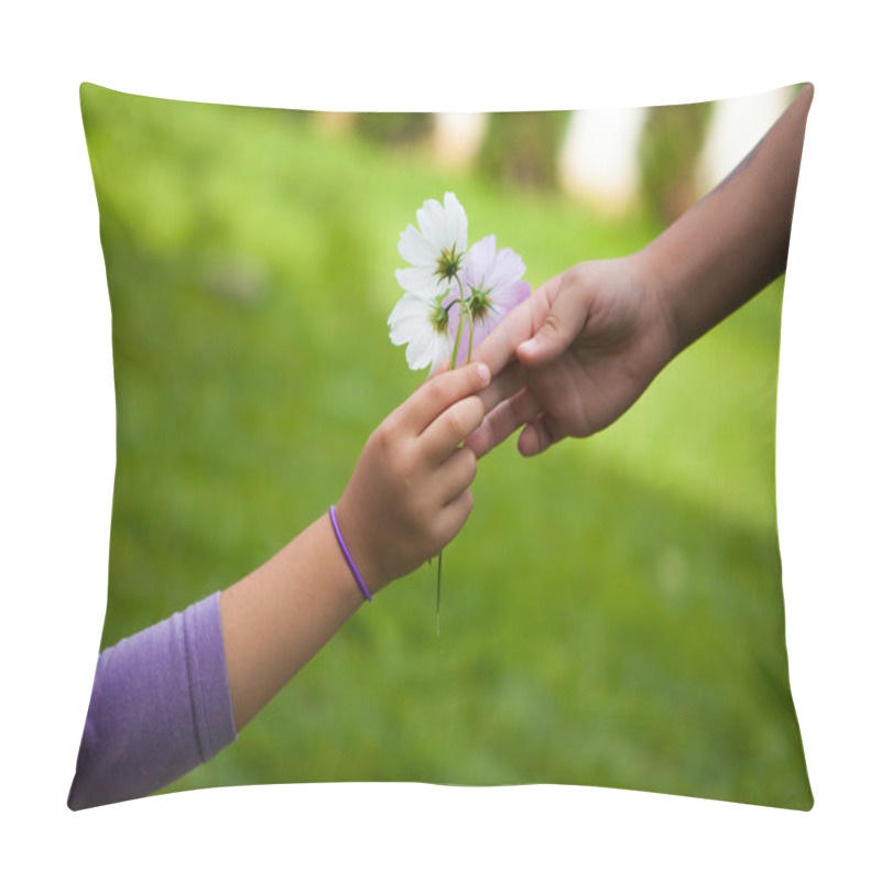
[{"label": "plain white backdrop surrounding the square pillow", "polygon": [[[713,10],[708,15],[708,10]],[[2,859],[13,877],[856,878],[879,871],[874,341],[879,75],[868,4],[15,4],[2,77]],[[89,80],[314,109],[628,107],[816,86],[783,315],[779,511],[809,814],[588,787],[228,788],[65,806],[105,611],[110,312]]]}]

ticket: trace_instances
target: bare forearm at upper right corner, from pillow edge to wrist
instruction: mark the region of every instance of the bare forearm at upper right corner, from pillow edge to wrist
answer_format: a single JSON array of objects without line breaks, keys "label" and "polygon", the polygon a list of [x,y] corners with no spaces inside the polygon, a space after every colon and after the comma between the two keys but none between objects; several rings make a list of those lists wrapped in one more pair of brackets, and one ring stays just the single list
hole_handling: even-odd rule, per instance
[{"label": "bare forearm at upper right corner, from pillow edge to wrist", "polygon": [[682,351],[786,268],[808,84],[719,186],[637,254]]}]

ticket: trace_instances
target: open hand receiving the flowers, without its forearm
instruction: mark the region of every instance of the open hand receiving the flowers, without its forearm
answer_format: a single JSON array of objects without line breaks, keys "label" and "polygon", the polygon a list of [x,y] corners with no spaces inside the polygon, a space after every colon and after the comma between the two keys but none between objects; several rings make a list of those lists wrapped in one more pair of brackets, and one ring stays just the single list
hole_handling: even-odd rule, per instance
[{"label": "open hand receiving the flowers, without its forearm", "polygon": [[492,381],[466,445],[477,456],[520,426],[534,456],[617,420],[675,354],[672,317],[640,254],[580,263],[515,308],[475,352]]}]

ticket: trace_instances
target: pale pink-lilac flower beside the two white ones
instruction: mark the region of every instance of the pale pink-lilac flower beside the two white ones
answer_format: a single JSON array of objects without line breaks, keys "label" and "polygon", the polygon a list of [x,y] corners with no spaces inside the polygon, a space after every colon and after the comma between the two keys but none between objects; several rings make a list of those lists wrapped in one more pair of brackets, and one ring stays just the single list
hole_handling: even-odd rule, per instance
[{"label": "pale pink-lilac flower beside the two white ones", "polygon": [[[470,352],[486,339],[497,324],[514,306],[526,300],[531,293],[529,282],[523,281],[526,267],[520,254],[510,248],[496,250],[496,237],[487,236],[471,246],[465,255],[461,273],[465,307],[471,320],[465,316],[461,342],[456,358],[457,367],[469,360]],[[444,297],[444,307],[449,315],[447,333],[455,339],[460,319],[459,287],[454,281],[449,293]],[[469,329],[474,338],[469,340]]]}]

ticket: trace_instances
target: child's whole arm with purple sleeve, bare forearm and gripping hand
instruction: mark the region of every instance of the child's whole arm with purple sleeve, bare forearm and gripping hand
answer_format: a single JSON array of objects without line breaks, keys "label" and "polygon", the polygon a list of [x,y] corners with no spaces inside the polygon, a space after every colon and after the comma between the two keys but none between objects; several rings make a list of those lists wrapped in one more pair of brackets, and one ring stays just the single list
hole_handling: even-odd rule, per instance
[{"label": "child's whole arm with purple sleeve, bare forearm and gripping hand", "polygon": [[[477,463],[460,447],[483,416],[486,366],[420,387],[370,436],[337,505],[371,592],[436,556],[467,520]],[[72,809],[148,795],[237,731],[365,597],[327,514],[241,581],[98,659]]]}]

